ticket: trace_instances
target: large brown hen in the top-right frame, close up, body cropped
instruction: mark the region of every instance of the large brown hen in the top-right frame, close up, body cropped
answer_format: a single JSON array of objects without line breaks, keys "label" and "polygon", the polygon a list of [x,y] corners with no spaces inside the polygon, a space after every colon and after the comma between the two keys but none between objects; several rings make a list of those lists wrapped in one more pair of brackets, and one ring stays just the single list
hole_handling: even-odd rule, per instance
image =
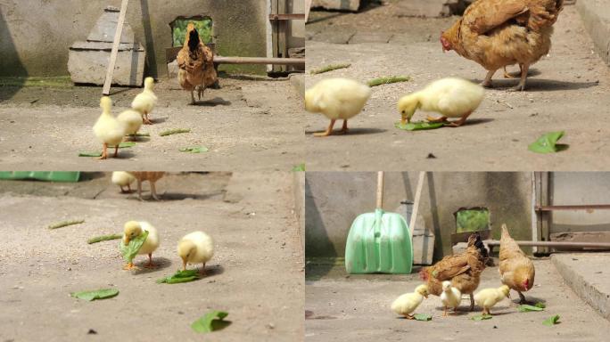
[{"label": "large brown hen in the top-right frame, close up, body cropped", "polygon": [[[487,69],[483,86],[500,68],[519,64],[523,90],[530,66],[548,53],[552,25],[564,0],[478,0],[441,34],[442,50],[455,50]],[[505,69],[506,71],[506,69]]]}]

